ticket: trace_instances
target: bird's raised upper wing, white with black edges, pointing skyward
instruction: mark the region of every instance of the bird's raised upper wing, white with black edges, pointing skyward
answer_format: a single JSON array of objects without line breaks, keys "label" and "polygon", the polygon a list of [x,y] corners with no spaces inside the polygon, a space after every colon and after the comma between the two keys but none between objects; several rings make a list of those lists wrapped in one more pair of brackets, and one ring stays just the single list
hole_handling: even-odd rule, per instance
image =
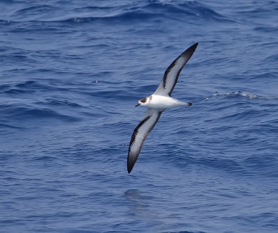
[{"label": "bird's raised upper wing, white with black edges, pointing skyward", "polygon": [[192,45],[186,49],[186,51],[183,51],[183,53],[178,56],[169,67],[167,67],[161,84],[154,92],[154,95],[171,96],[174,86],[176,86],[178,81],[179,73],[181,72],[183,66],[186,65],[190,57],[194,54],[197,45],[198,43]]}]

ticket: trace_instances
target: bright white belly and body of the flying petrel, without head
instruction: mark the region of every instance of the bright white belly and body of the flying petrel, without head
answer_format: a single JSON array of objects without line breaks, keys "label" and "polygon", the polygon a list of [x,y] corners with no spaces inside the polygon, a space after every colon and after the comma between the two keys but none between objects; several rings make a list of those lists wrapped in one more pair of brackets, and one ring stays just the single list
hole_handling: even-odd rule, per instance
[{"label": "bright white belly and body of the flying petrel, without head", "polygon": [[144,104],[150,109],[171,109],[177,106],[187,106],[188,103],[180,102],[172,97],[166,97],[162,95],[152,95],[151,101]]}]

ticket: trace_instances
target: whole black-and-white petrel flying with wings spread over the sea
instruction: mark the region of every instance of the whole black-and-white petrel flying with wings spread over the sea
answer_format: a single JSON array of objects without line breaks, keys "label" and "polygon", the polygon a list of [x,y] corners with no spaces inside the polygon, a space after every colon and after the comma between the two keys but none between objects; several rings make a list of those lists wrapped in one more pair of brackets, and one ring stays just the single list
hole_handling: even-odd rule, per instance
[{"label": "whole black-and-white petrel flying with wings spread over the sea", "polygon": [[183,53],[178,56],[169,67],[167,67],[161,84],[158,86],[154,94],[140,99],[136,104],[136,106],[146,106],[147,112],[138,126],[134,129],[131,136],[129,155],[127,156],[127,171],[129,173],[138,159],[145,139],[152,129],[154,129],[161,113],[163,113],[165,109],[192,105],[192,103],[180,102],[179,100],[172,98],[171,94],[178,81],[179,73],[194,54],[197,45],[198,43],[192,45],[186,49],[186,51],[183,51]]}]

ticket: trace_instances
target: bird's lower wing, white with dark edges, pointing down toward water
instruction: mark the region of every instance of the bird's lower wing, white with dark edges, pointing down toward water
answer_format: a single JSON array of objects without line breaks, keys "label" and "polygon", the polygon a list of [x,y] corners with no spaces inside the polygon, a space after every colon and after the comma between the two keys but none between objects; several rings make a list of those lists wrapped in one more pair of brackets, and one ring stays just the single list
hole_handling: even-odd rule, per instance
[{"label": "bird's lower wing, white with dark edges, pointing down toward water", "polygon": [[130,173],[139,153],[142,149],[142,145],[149,135],[149,133],[154,129],[156,122],[161,116],[163,110],[147,109],[147,112],[143,116],[141,122],[134,129],[131,136],[131,142],[129,143],[129,155],[127,156],[127,171]]}]

